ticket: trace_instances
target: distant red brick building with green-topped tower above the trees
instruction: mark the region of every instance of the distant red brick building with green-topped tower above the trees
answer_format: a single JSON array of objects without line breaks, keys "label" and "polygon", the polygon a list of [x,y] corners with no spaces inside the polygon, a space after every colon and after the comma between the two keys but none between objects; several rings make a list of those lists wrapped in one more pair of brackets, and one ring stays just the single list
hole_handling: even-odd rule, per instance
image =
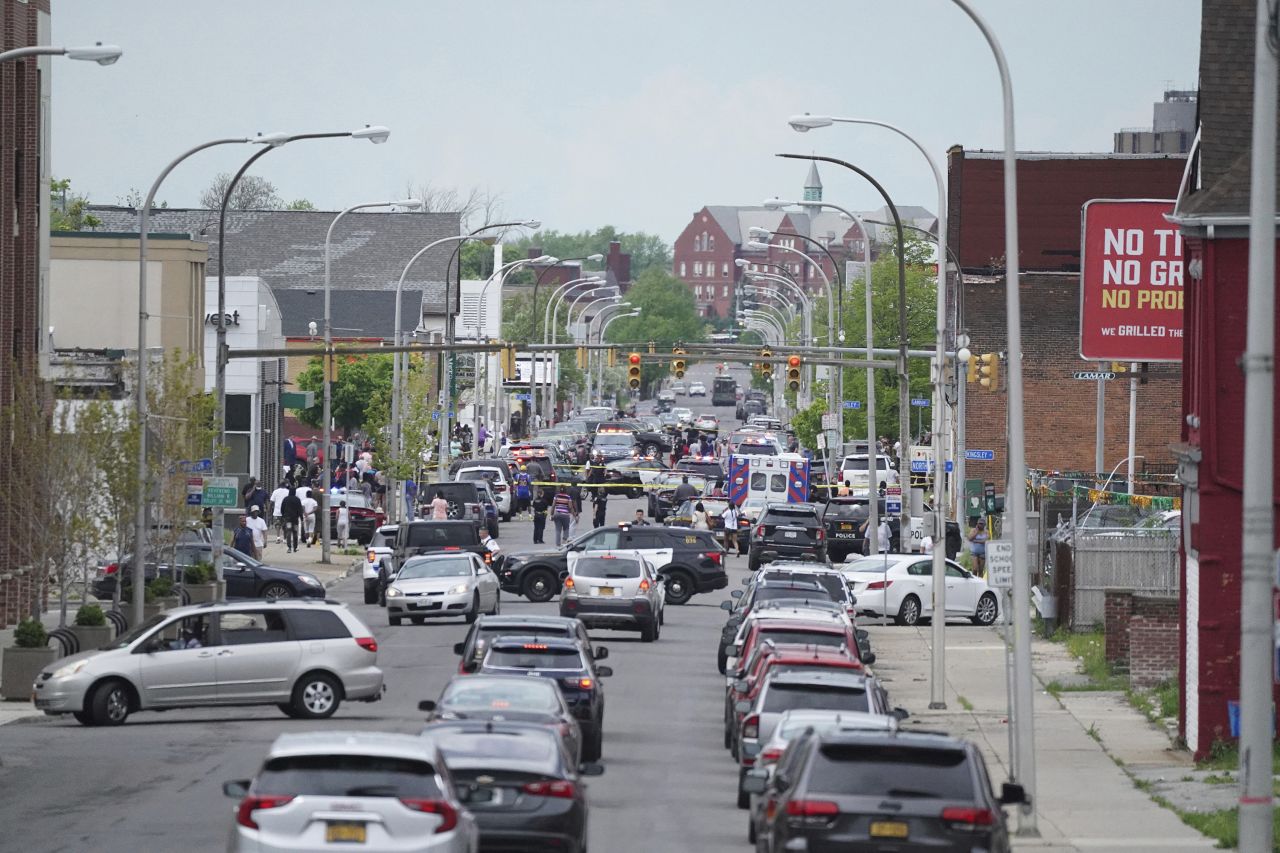
[{"label": "distant red brick building with green-topped tower above the trees", "polygon": [[[805,178],[804,201],[822,201],[822,178],[815,164],[810,164]],[[923,207],[900,206],[899,213],[905,223],[937,231],[937,218]],[[865,219],[888,220],[887,210],[859,213]],[[771,237],[768,251],[746,248],[751,242],[751,228],[764,228],[778,232]],[[879,228],[868,225],[867,231],[874,247],[879,242]],[[817,248],[800,236],[818,241],[831,252]],[[769,210],[754,206],[708,205],[696,213],[676,238],[672,251],[672,274],[685,282],[694,292],[698,310],[705,318],[730,318],[733,315],[735,292],[744,272],[778,272],[777,264],[786,268],[808,293],[826,295],[823,278],[812,264],[805,263],[794,252],[781,248],[797,248],[822,266],[823,273],[836,282],[836,264],[844,270],[849,260],[861,261],[863,240],[867,237],[856,223],[844,214],[822,207],[805,211]],[[739,268],[735,261],[746,259],[748,266]],[[874,254],[873,254],[874,257]]]}]

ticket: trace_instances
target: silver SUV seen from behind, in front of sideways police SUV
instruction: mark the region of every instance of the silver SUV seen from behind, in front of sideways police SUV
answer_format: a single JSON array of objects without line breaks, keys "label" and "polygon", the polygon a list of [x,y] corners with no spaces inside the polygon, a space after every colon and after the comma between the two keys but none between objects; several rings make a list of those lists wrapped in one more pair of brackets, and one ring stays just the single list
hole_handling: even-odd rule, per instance
[{"label": "silver SUV seen from behind, in front of sideways police SUV", "polygon": [[667,584],[639,553],[568,553],[568,575],[561,589],[561,616],[575,616],[588,628],[640,631],[652,643],[662,630]]}]

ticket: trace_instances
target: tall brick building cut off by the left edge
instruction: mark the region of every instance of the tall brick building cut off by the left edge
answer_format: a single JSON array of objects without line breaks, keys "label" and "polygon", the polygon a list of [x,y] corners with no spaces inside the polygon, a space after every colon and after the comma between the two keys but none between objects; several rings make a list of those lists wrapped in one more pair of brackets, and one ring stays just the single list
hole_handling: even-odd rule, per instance
[{"label": "tall brick building cut off by the left edge", "polygon": [[[49,42],[49,0],[0,0],[0,51]],[[41,248],[49,228],[47,151],[41,134],[49,99],[49,58],[0,63],[0,211],[4,246],[0,247],[0,406],[13,396],[14,370],[38,368],[40,292],[47,273]],[[0,470],[14,467],[0,442]],[[10,514],[22,507],[12,501],[14,489],[0,501],[0,628],[13,624],[29,606],[32,574],[15,565],[15,535]]]}]

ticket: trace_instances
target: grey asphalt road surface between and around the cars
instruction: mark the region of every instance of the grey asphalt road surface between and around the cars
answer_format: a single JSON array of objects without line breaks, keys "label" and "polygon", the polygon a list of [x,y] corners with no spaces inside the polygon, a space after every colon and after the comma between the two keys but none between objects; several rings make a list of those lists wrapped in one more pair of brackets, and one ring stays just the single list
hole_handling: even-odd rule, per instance
[{"label": "grey asphalt road surface between and around the cars", "polygon": [[[710,370],[703,378],[708,387]],[[681,405],[687,405],[681,398]],[[709,400],[690,406],[710,411]],[[732,410],[718,410],[732,424]],[[613,498],[611,523],[631,517],[643,500]],[[502,526],[508,552],[532,548],[529,521]],[[730,589],[746,560],[730,560]],[[745,812],[735,808],[736,772],[721,747],[723,679],[716,640],[727,590],[671,607],[662,638],[593,631],[609,647],[614,675],[604,683],[605,774],[590,781],[590,838],[604,853],[742,850]],[[390,628],[361,603],[360,580],[330,590],[378,638],[387,698],[344,704],[326,721],[289,720],[274,707],[142,712],[115,729],[86,729],[70,717],[38,717],[0,727],[0,850],[136,853],[220,848],[234,800],[221,783],[256,771],[271,740],[311,729],[416,733],[419,699],[435,698],[457,666],[462,620]],[[503,612],[557,612],[503,597]]]}]

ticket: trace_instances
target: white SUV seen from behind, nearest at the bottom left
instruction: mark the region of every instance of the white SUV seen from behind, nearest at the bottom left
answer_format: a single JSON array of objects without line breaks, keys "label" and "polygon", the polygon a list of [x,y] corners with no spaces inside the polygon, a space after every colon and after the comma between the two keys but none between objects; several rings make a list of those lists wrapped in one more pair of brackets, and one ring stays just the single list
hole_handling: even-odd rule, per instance
[{"label": "white SUV seen from behind, nearest at the bottom left", "polygon": [[283,734],[239,799],[227,849],[472,853],[480,831],[434,742],[380,731]]}]

